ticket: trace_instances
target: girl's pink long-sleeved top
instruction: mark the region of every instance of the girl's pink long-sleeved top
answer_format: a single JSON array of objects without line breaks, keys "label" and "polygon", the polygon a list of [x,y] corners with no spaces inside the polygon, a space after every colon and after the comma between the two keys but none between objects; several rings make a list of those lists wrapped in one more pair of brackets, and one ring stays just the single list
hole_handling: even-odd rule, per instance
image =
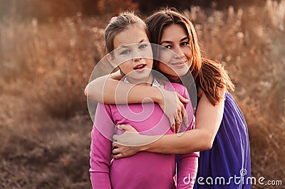
[{"label": "girl's pink long-sleeved top", "polygon": [[[172,87],[173,86],[173,87]],[[167,83],[165,90],[175,90],[189,99],[184,86]],[[194,116],[191,103],[186,104],[190,126],[192,129]],[[93,188],[176,188],[175,154],[138,152],[127,158],[113,159],[113,134],[120,134],[115,125],[130,124],[140,134],[161,135],[173,134],[170,121],[158,104],[123,104],[110,105],[98,103],[95,121],[91,132],[90,146],[90,180]],[[199,153],[182,154],[179,156],[177,188],[192,188],[188,175],[196,177]]]}]

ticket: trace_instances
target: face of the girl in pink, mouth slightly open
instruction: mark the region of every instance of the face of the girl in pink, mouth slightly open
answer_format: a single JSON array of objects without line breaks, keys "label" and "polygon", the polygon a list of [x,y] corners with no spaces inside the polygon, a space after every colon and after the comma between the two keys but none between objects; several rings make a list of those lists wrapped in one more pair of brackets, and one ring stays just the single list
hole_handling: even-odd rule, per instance
[{"label": "face of the girl in pink, mouth slightly open", "polygon": [[147,34],[138,26],[118,33],[113,41],[113,63],[131,83],[151,82],[152,48]]}]

